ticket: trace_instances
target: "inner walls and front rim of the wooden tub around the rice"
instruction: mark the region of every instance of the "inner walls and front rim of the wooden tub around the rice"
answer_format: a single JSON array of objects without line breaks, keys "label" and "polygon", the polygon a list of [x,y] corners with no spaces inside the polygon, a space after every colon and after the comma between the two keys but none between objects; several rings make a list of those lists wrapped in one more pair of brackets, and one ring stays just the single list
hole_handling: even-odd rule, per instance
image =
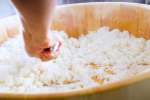
[{"label": "inner walls and front rim of the wooden tub around the rice", "polygon": [[[0,43],[20,33],[20,22],[16,16],[0,20]],[[51,29],[65,31],[69,36],[78,37],[88,31],[95,31],[102,26],[110,29],[127,30],[137,37],[150,38],[150,7],[135,3],[81,3],[59,6],[53,16]],[[118,83],[58,94],[0,94],[1,97],[63,97],[95,93],[112,88],[125,87],[137,81],[149,79],[150,74],[135,76]]]}]

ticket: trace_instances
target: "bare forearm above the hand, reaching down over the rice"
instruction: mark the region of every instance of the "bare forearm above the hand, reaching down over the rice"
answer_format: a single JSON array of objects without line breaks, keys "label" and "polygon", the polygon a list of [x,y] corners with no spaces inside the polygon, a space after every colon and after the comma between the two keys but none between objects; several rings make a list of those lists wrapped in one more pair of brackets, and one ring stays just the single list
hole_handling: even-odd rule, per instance
[{"label": "bare forearm above the hand, reaching down over the rice", "polygon": [[37,40],[46,38],[56,0],[12,0],[12,2],[19,11],[25,31]]}]

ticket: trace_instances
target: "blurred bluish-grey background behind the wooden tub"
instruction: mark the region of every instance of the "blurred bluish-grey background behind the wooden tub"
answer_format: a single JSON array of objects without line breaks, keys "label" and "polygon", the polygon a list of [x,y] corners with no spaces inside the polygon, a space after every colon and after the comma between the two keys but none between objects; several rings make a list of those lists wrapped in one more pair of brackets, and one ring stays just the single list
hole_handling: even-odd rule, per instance
[{"label": "blurred bluish-grey background behind the wooden tub", "polygon": [[[79,3],[79,2],[136,2],[150,4],[150,0],[58,0],[58,4]],[[15,14],[10,0],[0,0],[0,18]]]}]

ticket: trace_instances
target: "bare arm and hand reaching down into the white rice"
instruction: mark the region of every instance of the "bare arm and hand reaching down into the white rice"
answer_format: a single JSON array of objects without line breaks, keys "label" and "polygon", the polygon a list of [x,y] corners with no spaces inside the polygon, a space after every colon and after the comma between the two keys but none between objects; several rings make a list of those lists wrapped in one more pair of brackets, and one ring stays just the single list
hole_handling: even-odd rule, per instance
[{"label": "bare arm and hand reaching down into the white rice", "polygon": [[23,36],[27,53],[43,61],[55,58],[52,54],[48,32],[56,0],[11,0],[19,12],[24,28]]}]

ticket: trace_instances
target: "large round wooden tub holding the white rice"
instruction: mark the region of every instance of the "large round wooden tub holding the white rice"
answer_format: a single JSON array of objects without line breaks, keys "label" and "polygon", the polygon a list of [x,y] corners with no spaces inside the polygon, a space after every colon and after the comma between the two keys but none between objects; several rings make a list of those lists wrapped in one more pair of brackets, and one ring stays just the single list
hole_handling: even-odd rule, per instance
[{"label": "large round wooden tub holding the white rice", "polygon": [[[128,30],[137,37],[150,38],[150,7],[135,3],[81,3],[58,6],[52,29],[64,30],[70,36],[99,27]],[[17,16],[0,20],[0,43],[20,33]],[[150,100],[150,72],[119,82],[61,93],[0,93],[2,99],[48,100]]]}]

